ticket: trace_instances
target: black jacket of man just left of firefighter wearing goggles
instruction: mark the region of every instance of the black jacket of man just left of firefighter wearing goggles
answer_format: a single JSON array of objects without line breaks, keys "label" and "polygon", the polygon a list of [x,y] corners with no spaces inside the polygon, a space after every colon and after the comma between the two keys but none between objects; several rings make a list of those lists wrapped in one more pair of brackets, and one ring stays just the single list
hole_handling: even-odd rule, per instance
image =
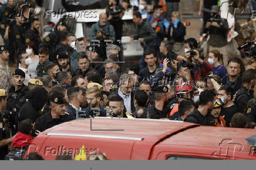
[{"label": "black jacket of man just left of firefighter wearing goggles", "polygon": [[186,122],[196,123],[200,125],[211,125],[210,120],[208,120],[207,116],[204,116],[197,109],[188,114],[187,118],[185,118]]}]

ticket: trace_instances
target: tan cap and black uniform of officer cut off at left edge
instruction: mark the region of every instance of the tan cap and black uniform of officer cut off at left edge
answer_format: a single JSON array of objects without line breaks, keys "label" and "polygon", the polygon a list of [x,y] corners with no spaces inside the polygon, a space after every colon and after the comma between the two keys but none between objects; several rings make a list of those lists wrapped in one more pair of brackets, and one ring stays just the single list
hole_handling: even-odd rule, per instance
[{"label": "tan cap and black uniform of officer cut off at left edge", "polygon": [[[6,91],[4,89],[0,89],[0,97],[6,96]],[[0,113],[0,141],[7,139],[6,131],[5,131],[5,123],[2,118],[2,114]],[[0,147],[0,160],[4,160],[5,155],[8,154],[8,145],[4,147]]]}]

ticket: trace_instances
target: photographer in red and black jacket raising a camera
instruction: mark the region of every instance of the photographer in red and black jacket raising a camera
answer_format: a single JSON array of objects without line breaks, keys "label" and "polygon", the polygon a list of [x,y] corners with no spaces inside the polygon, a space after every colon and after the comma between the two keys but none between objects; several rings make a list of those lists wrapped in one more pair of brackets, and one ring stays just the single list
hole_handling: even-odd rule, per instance
[{"label": "photographer in red and black jacket raising a camera", "polygon": [[190,50],[190,52],[187,52],[187,57],[190,59],[190,62],[196,63],[191,70],[191,80],[203,79],[202,75],[213,70],[213,66],[211,66],[209,62],[204,61],[197,50]]}]

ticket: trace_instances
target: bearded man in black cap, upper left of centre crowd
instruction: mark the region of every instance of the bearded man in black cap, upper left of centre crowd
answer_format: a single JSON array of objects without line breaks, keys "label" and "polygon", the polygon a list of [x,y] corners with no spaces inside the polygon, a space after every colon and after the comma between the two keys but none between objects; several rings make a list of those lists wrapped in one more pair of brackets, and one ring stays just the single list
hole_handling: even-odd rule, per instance
[{"label": "bearded man in black cap, upper left of centre crowd", "polygon": [[58,55],[56,56],[56,59],[59,64],[60,72],[69,72],[69,73],[75,72],[76,68],[73,66],[70,66],[69,64],[68,52],[58,53]]}]

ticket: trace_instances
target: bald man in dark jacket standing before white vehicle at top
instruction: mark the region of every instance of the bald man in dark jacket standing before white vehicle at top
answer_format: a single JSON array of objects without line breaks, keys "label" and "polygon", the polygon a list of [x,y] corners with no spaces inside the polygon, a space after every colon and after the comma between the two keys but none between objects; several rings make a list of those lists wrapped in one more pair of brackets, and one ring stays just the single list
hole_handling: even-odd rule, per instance
[{"label": "bald man in dark jacket standing before white vehicle at top", "polygon": [[107,21],[107,14],[100,13],[99,21],[92,25],[92,39],[113,40],[116,38],[114,28]]}]

